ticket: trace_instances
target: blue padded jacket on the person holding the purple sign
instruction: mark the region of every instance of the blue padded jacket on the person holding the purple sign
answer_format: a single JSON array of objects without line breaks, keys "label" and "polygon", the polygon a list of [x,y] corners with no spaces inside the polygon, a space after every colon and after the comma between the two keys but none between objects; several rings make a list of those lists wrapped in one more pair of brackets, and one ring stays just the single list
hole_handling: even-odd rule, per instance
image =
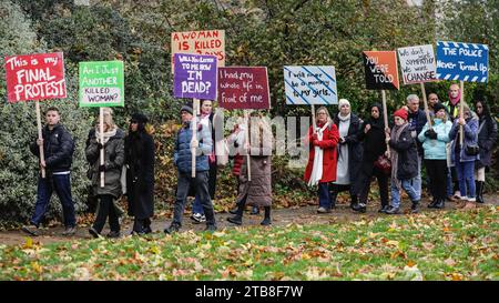
[{"label": "blue padded jacket on the person holding the purple sign", "polygon": [[[179,130],[173,153],[173,162],[183,173],[191,173],[192,170],[191,139],[191,123],[186,123]],[[208,128],[203,128],[200,123],[197,123],[197,141],[200,145],[196,149],[196,172],[208,171],[208,154],[213,147],[212,133]]]}]

